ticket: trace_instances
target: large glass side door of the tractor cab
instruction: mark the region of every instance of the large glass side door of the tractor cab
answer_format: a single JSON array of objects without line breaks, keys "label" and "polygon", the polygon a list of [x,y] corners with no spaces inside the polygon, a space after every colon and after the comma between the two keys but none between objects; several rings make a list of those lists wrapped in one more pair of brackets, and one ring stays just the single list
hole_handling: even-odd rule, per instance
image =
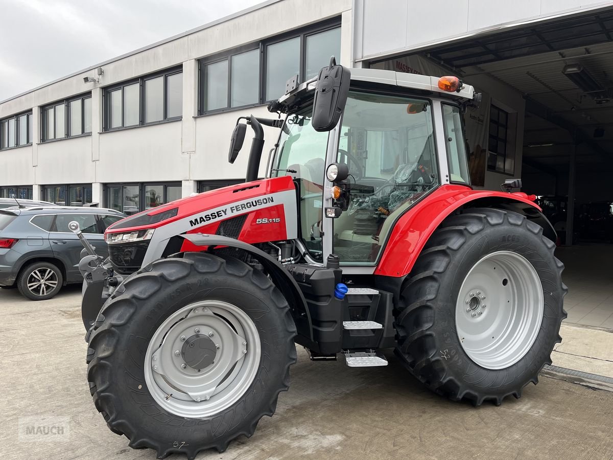
[{"label": "large glass side door of the tractor cab", "polygon": [[394,220],[438,185],[428,99],[351,91],[338,163],[349,167],[348,209],[333,223],[341,263],[375,264]]}]

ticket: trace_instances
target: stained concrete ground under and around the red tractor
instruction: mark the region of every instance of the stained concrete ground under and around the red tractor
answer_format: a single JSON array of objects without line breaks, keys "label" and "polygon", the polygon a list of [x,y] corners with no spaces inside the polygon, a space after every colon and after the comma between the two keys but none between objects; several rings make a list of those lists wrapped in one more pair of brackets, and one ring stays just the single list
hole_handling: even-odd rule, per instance
[{"label": "stained concrete ground under and around the red tractor", "polygon": [[[79,286],[44,302],[0,290],[1,459],[155,458],[112,434],[92,404],[79,303]],[[251,439],[198,458],[613,458],[613,393],[541,377],[519,400],[474,408],[430,393],[389,360],[351,369],[300,350],[275,416]],[[61,442],[20,439],[19,424],[44,415],[69,420]]]}]

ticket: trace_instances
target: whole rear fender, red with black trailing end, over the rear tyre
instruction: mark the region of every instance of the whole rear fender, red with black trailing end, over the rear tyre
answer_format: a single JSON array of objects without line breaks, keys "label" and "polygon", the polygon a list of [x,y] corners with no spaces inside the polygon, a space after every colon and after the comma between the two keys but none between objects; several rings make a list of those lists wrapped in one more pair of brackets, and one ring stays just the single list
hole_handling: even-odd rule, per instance
[{"label": "whole rear fender, red with black trailing end, over the rear tyre", "polygon": [[495,207],[524,215],[543,228],[555,242],[554,228],[525,193],[471,190],[461,185],[443,185],[405,212],[394,224],[375,275],[405,277],[413,269],[433,232],[449,215],[467,207]]}]

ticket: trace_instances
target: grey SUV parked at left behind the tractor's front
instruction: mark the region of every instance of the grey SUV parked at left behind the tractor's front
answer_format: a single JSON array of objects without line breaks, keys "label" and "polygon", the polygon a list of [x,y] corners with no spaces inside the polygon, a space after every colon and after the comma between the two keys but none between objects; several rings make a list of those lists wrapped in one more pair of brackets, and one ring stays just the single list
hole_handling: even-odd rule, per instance
[{"label": "grey SUV parked at left behind the tractor's front", "polygon": [[0,288],[17,287],[34,301],[50,299],[62,286],[81,283],[83,246],[70,231],[77,221],[96,252],[106,258],[104,231],[125,216],[117,211],[82,207],[26,207],[0,210]]}]

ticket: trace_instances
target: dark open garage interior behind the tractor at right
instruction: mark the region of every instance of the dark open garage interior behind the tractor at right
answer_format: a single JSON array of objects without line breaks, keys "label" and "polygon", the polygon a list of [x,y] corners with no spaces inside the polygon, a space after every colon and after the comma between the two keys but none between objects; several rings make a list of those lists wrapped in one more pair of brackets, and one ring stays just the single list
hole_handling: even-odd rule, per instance
[{"label": "dark open garage interior behind the tractor at right", "polygon": [[[566,321],[613,329],[613,9],[503,28],[420,56],[477,89],[487,76],[524,98],[522,191],[539,196],[558,232]],[[492,109],[488,172],[500,172],[497,116]]]}]

